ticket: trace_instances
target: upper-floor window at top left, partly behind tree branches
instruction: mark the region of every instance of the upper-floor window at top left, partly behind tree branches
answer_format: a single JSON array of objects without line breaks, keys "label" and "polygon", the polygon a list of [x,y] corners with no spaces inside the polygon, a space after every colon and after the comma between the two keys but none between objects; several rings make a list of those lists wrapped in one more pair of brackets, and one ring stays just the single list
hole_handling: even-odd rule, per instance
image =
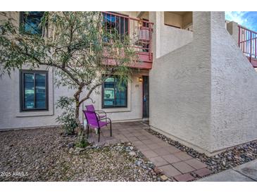
[{"label": "upper-floor window at top left, partly behind tree branches", "polygon": [[20,31],[25,34],[42,35],[42,27],[39,27],[44,11],[20,12]]}]

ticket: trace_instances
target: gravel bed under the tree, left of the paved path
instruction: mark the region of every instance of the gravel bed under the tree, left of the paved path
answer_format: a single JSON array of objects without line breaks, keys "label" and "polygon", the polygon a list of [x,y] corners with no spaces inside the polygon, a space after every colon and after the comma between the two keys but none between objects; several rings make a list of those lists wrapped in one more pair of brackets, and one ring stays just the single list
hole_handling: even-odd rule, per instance
[{"label": "gravel bed under the tree, left of the paved path", "polygon": [[74,147],[61,128],[0,132],[0,181],[160,181],[130,143]]}]

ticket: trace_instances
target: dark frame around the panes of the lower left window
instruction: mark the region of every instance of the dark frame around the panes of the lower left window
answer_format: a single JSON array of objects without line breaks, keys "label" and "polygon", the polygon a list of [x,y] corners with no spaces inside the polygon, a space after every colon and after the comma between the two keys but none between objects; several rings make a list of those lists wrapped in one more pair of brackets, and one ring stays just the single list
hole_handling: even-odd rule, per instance
[{"label": "dark frame around the panes of the lower left window", "polygon": [[[20,70],[20,112],[35,112],[35,111],[49,111],[49,80],[48,80],[48,71],[47,70]],[[26,109],[24,106],[24,98],[25,98],[25,93],[24,93],[24,74],[33,74],[34,77],[36,74],[45,74],[46,75],[46,80],[45,80],[45,85],[46,85],[46,108],[30,108]],[[34,79],[34,91],[36,90],[35,87],[35,79]],[[35,91],[35,96],[34,96],[34,104],[36,104],[36,91]]]}]

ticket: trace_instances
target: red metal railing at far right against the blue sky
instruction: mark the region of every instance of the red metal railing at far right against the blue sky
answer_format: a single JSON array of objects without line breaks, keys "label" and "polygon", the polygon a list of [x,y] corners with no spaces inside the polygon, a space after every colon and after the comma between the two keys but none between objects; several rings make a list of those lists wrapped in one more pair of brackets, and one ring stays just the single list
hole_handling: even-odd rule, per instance
[{"label": "red metal railing at far right against the blue sky", "polygon": [[238,44],[244,55],[249,58],[254,68],[257,68],[257,32],[253,32],[241,25],[239,27]]}]

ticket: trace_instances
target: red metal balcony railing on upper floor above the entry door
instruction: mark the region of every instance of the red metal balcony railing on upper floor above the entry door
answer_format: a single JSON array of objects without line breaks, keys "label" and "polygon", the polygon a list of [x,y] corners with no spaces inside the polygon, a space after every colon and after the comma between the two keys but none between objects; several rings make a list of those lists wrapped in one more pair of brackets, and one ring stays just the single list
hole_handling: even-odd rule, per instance
[{"label": "red metal balcony railing on upper floor above the entry door", "polygon": [[127,15],[102,11],[106,30],[118,32],[120,38],[128,35],[130,44],[139,58],[139,65],[134,68],[151,69],[153,54],[151,51],[153,23],[148,20],[130,18]]}]

